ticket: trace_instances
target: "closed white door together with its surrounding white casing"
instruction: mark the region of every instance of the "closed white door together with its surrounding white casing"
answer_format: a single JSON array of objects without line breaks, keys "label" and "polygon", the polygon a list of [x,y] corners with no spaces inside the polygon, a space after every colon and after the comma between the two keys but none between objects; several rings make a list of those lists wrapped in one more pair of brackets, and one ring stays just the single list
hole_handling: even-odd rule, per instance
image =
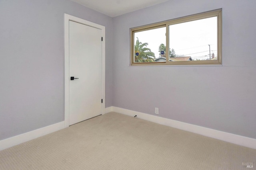
[{"label": "closed white door together with its surrounding white casing", "polygon": [[[64,24],[65,127],[68,127],[79,121],[105,113],[105,27],[68,14],[64,14]],[[82,35],[76,34],[79,31],[82,31]],[[99,37],[100,41],[98,41],[96,36],[102,36],[103,40],[101,41],[101,37]],[[82,42],[85,38],[90,39],[90,42]],[[97,44],[96,46],[100,45],[101,49],[97,50],[98,47],[95,48],[95,45],[92,45],[94,43]],[[90,50],[86,50],[84,47],[88,47]],[[100,53],[102,58],[96,58],[95,55],[100,55]],[[75,58],[72,57],[74,55]],[[80,61],[77,61],[78,59]],[[85,63],[86,66],[81,63]],[[79,79],[70,80],[71,76]],[[100,80],[95,78],[97,76],[100,77]],[[87,97],[80,97],[78,94]],[[102,103],[98,101],[101,99],[103,100]],[[86,115],[81,114],[85,111]]]}]

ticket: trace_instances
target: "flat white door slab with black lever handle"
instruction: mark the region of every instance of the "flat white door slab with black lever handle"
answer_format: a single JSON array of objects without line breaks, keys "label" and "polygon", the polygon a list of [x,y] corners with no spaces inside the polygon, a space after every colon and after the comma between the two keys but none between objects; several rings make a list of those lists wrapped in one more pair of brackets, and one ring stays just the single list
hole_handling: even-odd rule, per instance
[{"label": "flat white door slab with black lever handle", "polygon": [[101,115],[101,29],[69,21],[69,76],[69,125]]}]

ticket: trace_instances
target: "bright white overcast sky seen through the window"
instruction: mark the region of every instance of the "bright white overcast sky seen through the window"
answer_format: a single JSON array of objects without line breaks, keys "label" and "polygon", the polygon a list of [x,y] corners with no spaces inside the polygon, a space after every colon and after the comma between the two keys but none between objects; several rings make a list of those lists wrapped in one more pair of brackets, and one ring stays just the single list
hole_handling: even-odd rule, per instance
[{"label": "bright white overcast sky seen through the window", "polygon": [[[159,57],[158,48],[161,43],[166,45],[166,27],[135,33],[142,43]],[[169,46],[177,55],[192,59],[209,59],[209,53],[217,57],[217,17],[169,25]],[[134,42],[134,43],[135,43]],[[209,52],[210,45],[210,52]]]}]

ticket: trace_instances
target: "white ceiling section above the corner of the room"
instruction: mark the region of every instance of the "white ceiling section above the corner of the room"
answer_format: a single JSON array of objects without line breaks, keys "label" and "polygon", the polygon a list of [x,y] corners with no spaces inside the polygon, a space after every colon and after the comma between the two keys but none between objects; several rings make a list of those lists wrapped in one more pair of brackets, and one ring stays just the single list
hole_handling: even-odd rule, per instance
[{"label": "white ceiling section above the corner of the room", "polygon": [[72,0],[110,17],[160,4],[168,0]]}]

